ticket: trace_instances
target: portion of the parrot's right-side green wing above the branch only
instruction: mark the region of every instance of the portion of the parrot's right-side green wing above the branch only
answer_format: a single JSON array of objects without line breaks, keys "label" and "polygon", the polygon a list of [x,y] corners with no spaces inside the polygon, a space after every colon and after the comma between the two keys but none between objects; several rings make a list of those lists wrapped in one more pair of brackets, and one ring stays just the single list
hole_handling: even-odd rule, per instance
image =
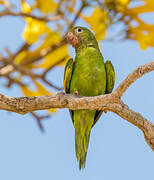
[{"label": "portion of the parrot's right-side green wing above the branch only", "polygon": [[105,94],[109,94],[112,92],[115,83],[115,72],[111,61],[106,61],[105,63],[106,70],[106,92]]}]

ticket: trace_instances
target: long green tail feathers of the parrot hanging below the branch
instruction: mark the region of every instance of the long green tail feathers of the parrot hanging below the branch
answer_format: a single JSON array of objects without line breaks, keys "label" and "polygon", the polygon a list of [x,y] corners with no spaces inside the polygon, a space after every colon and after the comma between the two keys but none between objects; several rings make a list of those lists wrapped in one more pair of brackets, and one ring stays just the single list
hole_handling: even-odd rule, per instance
[{"label": "long green tail feathers of the parrot hanging below the branch", "polygon": [[74,111],[75,150],[80,170],[85,167],[94,114],[94,111],[88,110]]}]

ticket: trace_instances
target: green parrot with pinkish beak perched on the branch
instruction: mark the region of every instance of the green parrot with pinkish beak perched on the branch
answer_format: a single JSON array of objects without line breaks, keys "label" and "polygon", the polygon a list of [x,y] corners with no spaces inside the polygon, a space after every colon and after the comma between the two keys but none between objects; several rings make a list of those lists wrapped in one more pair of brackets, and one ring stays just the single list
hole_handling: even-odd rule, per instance
[{"label": "green parrot with pinkish beak perched on the branch", "polygon": [[[76,51],[68,60],[64,72],[66,93],[98,96],[112,92],[115,73],[110,61],[104,63],[94,34],[85,27],[73,27],[66,35]],[[75,150],[79,169],[85,167],[92,127],[102,114],[98,110],[69,110],[75,128]]]}]

